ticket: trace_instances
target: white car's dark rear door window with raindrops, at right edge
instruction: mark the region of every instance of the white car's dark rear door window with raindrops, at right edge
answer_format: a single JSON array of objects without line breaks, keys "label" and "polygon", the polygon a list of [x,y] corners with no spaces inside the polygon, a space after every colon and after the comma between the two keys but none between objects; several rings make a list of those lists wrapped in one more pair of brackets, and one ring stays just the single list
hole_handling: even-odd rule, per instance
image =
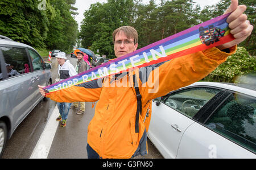
[{"label": "white car's dark rear door window with raindrops, at right edge", "polygon": [[232,94],[205,125],[256,152],[256,98]]}]

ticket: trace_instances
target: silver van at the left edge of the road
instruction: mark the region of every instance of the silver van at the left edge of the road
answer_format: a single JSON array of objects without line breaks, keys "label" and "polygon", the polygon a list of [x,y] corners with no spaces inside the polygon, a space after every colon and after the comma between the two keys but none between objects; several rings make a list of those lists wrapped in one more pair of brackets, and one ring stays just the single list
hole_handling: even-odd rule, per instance
[{"label": "silver van at the left edge of the road", "polygon": [[0,157],[7,139],[42,100],[38,85],[52,84],[50,69],[34,48],[0,35]]}]

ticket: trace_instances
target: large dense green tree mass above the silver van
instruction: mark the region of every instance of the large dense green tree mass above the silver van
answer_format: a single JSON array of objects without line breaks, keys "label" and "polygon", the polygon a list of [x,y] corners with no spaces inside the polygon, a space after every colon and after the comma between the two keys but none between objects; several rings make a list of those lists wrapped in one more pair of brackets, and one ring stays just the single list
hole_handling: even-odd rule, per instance
[{"label": "large dense green tree mass above the silver van", "polygon": [[[42,3],[43,7],[40,5]],[[77,39],[75,0],[0,1],[0,34],[35,48],[71,51]]]}]

